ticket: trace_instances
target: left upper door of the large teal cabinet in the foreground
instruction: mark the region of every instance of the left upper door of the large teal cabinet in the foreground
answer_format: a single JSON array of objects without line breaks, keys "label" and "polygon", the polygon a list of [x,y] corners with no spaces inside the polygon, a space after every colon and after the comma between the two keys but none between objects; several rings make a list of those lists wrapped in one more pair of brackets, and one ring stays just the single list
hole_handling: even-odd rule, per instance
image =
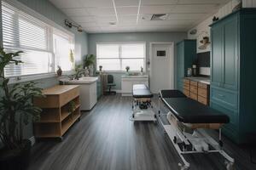
[{"label": "left upper door of the large teal cabinet in the foreground", "polygon": [[223,82],[223,26],[212,26],[211,85],[221,86]]}]

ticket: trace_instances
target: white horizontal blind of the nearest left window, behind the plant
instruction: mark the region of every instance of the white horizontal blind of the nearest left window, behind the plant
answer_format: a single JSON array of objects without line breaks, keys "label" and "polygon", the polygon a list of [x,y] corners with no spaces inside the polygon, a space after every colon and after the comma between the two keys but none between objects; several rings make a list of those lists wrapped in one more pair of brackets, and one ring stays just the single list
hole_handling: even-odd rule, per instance
[{"label": "white horizontal blind of the nearest left window, behind the plant", "polygon": [[4,75],[19,77],[53,72],[53,53],[48,45],[49,26],[5,2],[2,2],[2,17],[4,50],[24,52],[16,58],[23,63],[7,65]]}]

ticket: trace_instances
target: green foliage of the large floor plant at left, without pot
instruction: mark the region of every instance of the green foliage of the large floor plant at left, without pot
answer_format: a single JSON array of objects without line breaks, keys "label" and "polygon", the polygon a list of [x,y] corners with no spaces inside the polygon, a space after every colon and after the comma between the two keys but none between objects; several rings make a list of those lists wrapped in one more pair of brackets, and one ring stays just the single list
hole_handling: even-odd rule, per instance
[{"label": "green foliage of the large floor plant at left, without pot", "polygon": [[23,141],[23,125],[31,120],[38,120],[41,109],[32,104],[33,97],[42,97],[42,89],[35,82],[16,83],[9,87],[9,78],[4,77],[6,65],[22,63],[15,59],[22,51],[5,53],[0,48],[0,87],[3,96],[0,98],[0,139],[7,150],[21,150]]}]

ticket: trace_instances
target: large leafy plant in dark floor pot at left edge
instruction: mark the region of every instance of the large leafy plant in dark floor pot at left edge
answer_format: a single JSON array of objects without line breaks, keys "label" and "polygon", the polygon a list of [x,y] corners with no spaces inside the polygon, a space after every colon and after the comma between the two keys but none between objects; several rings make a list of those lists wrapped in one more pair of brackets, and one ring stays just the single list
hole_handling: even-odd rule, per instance
[{"label": "large leafy plant in dark floor pot at left edge", "polygon": [[38,120],[41,109],[33,105],[32,98],[42,97],[42,89],[35,82],[9,86],[9,78],[4,77],[4,67],[19,65],[15,59],[22,52],[5,53],[0,48],[0,169],[23,170],[28,167],[31,142],[23,138],[23,127],[31,120]]}]

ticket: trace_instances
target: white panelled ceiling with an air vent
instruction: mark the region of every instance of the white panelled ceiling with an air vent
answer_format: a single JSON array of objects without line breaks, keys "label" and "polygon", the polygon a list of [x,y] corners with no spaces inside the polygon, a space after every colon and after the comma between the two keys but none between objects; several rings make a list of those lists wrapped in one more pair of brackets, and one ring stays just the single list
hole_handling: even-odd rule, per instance
[{"label": "white panelled ceiling with an air vent", "polygon": [[[188,31],[230,0],[49,0],[89,33]],[[166,20],[150,20],[167,14]],[[114,25],[111,25],[114,24]]]}]

